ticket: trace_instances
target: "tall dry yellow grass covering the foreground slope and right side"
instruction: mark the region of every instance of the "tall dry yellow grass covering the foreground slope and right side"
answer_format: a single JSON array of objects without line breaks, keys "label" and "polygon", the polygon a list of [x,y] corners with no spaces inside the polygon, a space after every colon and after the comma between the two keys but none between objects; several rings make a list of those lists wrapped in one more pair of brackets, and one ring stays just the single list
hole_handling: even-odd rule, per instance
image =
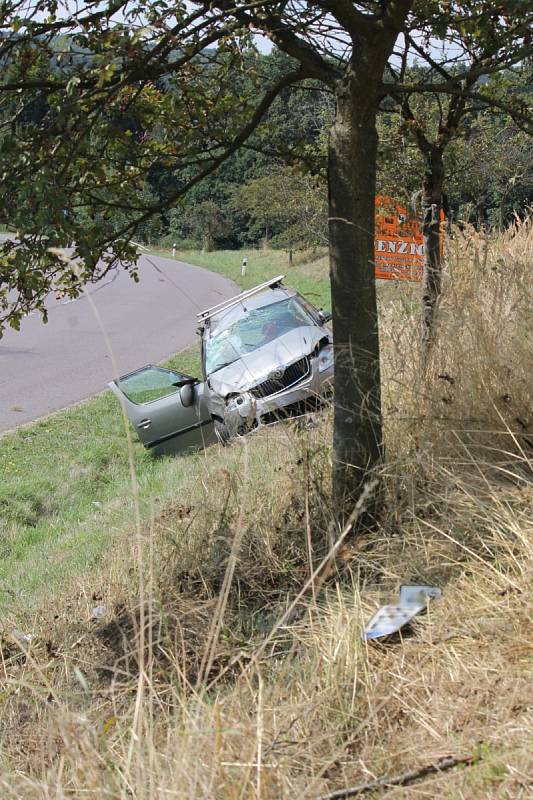
[{"label": "tall dry yellow grass covering the foreground slope and right side", "polygon": [[[531,223],[456,233],[425,370],[389,293],[383,521],[296,621],[276,624],[327,550],[327,418],[206,454],[142,563],[122,541],[26,621],[27,651],[3,640],[2,797],[318,798],[446,756],[468,765],[373,796],[533,794],[532,256]],[[443,599],[363,644],[419,581]]]}]

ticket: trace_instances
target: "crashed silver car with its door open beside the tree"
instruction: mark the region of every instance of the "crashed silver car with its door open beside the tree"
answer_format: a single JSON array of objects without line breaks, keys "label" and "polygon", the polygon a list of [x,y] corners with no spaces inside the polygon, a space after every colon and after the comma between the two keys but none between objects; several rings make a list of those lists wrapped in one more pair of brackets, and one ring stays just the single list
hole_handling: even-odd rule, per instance
[{"label": "crashed silver car with its door open beside the tree", "polygon": [[333,379],[331,314],[283,278],[198,315],[202,381],[149,365],[109,384],[145,447],[205,447],[322,404]]}]

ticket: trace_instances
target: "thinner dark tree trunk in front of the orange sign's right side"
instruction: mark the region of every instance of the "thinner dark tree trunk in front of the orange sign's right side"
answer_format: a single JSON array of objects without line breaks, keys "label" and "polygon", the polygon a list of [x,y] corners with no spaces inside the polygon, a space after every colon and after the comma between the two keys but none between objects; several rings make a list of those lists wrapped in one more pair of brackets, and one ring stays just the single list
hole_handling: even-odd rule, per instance
[{"label": "thinner dark tree trunk in front of the orange sign's right side", "polygon": [[435,333],[435,314],[442,291],[441,211],[444,164],[442,150],[432,147],[422,192],[424,275],[422,279],[422,345],[427,353]]}]

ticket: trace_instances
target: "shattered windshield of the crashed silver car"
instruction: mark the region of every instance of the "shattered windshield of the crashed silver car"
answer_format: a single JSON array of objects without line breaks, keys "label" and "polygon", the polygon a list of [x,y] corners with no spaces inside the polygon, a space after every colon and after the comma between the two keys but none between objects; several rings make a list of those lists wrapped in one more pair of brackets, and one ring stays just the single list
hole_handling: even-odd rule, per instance
[{"label": "shattered windshield of the crashed silver car", "polygon": [[206,340],[206,374],[233,364],[242,355],[263,347],[293,328],[313,324],[314,321],[294,297],[251,309],[233,325]]}]

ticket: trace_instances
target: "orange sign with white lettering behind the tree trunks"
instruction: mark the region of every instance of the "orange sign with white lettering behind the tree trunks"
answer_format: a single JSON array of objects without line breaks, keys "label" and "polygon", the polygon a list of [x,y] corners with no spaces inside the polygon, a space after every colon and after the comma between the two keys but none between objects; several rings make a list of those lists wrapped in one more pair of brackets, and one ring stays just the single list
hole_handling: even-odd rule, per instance
[{"label": "orange sign with white lettering behind the tree trunks", "polygon": [[[441,223],[443,221],[444,214],[441,211]],[[374,263],[376,278],[422,280],[424,237],[420,222],[391,197],[382,195],[376,197]]]}]

